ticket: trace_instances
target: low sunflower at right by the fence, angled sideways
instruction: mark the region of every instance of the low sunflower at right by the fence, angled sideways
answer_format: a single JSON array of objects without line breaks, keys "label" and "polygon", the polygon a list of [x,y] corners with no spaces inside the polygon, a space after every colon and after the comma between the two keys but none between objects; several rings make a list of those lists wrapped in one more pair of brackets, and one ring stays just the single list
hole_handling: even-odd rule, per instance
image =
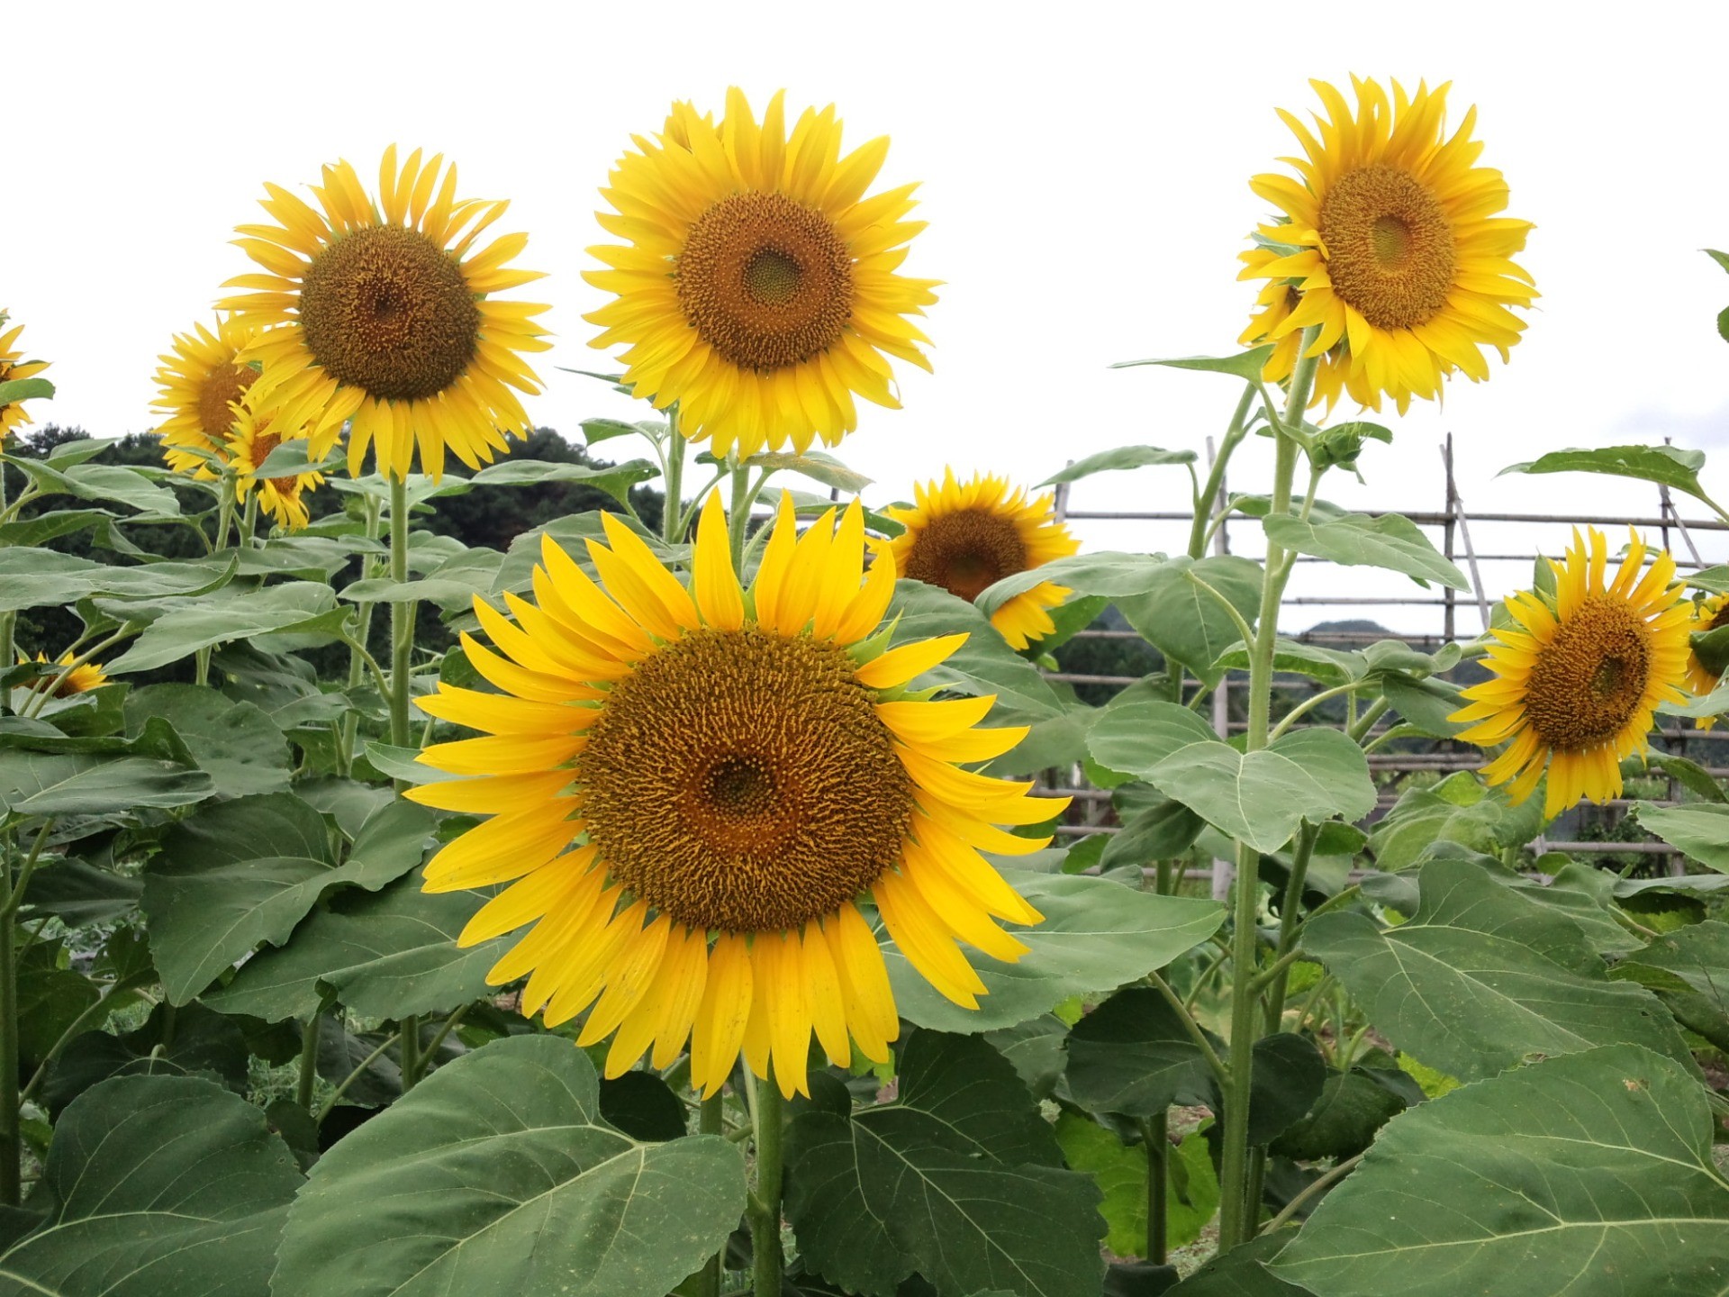
[{"label": "low sunflower at right by the fence, angled sideways", "polygon": [[1452,719],[1475,721],[1459,735],[1466,742],[1508,744],[1483,778],[1511,780],[1515,804],[1530,795],[1546,766],[1549,818],[1580,797],[1618,795],[1620,761],[1649,751],[1656,706],[1686,697],[1693,605],[1681,598],[1668,550],[1649,571],[1643,571],[1644,553],[1634,534],[1620,571],[1605,585],[1603,533],[1592,527],[1587,548],[1575,531],[1566,560],[1549,562],[1553,602],[1530,590],[1506,600],[1518,628],[1494,631],[1494,680],[1464,690],[1470,706]]}]

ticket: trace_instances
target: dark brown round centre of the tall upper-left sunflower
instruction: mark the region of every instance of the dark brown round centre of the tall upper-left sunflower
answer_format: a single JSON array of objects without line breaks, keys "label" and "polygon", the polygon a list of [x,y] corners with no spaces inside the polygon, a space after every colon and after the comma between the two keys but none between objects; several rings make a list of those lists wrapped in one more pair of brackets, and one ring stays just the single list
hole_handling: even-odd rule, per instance
[{"label": "dark brown round centre of the tall upper-left sunflower", "polygon": [[342,235],[306,268],[301,327],[337,382],[420,401],[469,368],[481,310],[456,258],[418,230],[375,225]]}]

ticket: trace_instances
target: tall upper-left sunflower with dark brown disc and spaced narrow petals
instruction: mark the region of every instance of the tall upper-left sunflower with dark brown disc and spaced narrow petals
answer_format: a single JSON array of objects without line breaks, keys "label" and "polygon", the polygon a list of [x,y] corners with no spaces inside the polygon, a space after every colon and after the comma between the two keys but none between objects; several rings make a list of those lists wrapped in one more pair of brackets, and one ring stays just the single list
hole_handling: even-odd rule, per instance
[{"label": "tall upper-left sunflower with dark brown disc and spaced narrow petals", "polygon": [[320,457],[351,420],[351,474],[377,441],[382,470],[405,477],[418,444],[436,479],[446,448],[477,469],[507,448],[505,432],[529,434],[517,393],[539,380],[522,353],[552,346],[533,318],[546,308],[489,294],[541,275],[507,265],[527,235],[475,251],[508,202],[458,199],[441,154],[422,164],[415,149],[398,168],[396,145],[384,150],[377,201],[344,161],[311,187],[322,211],[265,188],[259,204],[278,223],[242,225],[235,242],[266,273],[230,280],[249,292],[221,306],[270,329],[246,353],[265,367],[258,394],[308,425]]}]

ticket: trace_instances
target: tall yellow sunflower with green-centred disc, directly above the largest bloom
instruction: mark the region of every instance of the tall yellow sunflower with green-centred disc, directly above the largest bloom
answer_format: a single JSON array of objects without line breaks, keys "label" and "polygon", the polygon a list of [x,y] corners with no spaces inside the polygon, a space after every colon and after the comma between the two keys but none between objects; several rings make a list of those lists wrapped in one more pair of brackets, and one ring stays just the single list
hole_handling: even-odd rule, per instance
[{"label": "tall yellow sunflower with green-centred disc, directly above the largest bloom", "polygon": [[716,455],[833,446],[858,425],[852,396],[899,408],[884,353],[928,370],[908,316],[937,280],[896,273],[923,221],[903,220],[916,185],[864,197],[887,137],[840,156],[833,105],[788,137],[776,93],[761,125],[740,90],[719,126],[674,104],[662,133],[635,138],[597,213],[622,246],[591,247],[584,278],[617,299],[583,318],[597,348],[626,344],[624,382]]}]

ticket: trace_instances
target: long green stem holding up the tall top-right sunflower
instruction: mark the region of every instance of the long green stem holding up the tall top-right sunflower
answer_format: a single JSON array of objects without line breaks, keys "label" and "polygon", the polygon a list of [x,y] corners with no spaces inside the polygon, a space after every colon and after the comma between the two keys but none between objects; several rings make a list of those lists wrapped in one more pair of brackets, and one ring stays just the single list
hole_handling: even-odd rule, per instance
[{"label": "long green stem holding up the tall top-right sunflower", "polygon": [[[1290,379],[1285,417],[1278,422],[1273,462],[1273,507],[1269,517],[1290,514],[1292,482],[1297,477],[1298,441],[1290,429],[1302,427],[1302,413],[1309,408],[1309,389],[1314,382],[1316,356],[1307,351],[1314,344],[1317,327],[1304,329],[1300,360]],[[1279,602],[1285,595],[1285,548],[1267,540],[1266,565],[1260,574],[1260,612],[1248,657],[1248,733],[1245,752],[1267,745],[1269,712],[1273,704],[1273,650],[1279,633]],[[1248,1095],[1255,1060],[1255,1038],[1260,1025],[1255,1010],[1260,1005],[1257,987],[1257,953],[1260,913],[1260,853],[1248,842],[1236,844],[1235,923],[1231,930],[1231,1084],[1226,1091],[1224,1148],[1219,1167],[1219,1250],[1229,1252],[1238,1243],[1255,1236],[1259,1202],[1250,1200],[1254,1159],[1248,1150]]]}]

